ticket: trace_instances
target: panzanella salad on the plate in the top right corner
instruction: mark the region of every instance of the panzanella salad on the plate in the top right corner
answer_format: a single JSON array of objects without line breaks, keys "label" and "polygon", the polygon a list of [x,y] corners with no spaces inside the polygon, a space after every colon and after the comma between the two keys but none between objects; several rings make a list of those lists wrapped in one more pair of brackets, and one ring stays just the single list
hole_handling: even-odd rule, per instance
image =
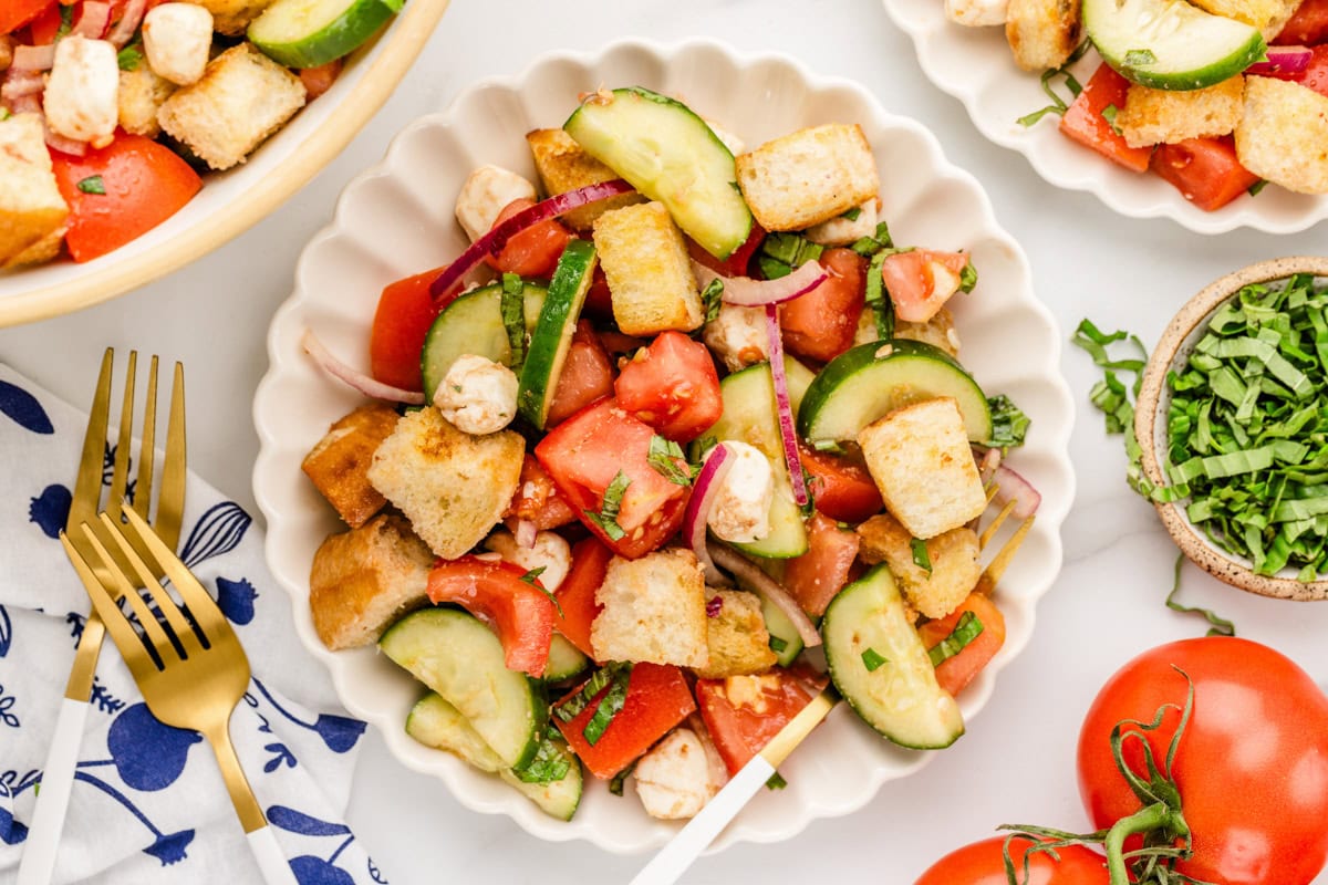
[{"label": "panzanella salad on the plate in the top right corner", "polygon": [[[1053,103],[1025,126],[1060,114],[1062,134],[1206,211],[1266,182],[1328,194],[1328,0],[944,4],[957,24],[1004,25],[1016,64],[1042,72]],[[1069,68],[1090,45],[1102,61],[1081,85]]]}]

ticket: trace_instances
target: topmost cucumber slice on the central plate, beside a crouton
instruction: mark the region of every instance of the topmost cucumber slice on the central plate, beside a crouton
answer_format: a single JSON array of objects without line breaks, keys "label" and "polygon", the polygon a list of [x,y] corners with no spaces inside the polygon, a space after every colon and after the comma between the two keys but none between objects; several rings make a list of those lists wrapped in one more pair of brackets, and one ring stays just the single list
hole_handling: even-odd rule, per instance
[{"label": "topmost cucumber slice on the central plate, beside a crouton", "polygon": [[632,187],[664,203],[714,257],[726,259],[746,243],[752,210],[738,192],[733,154],[687,105],[640,86],[599,92],[563,129]]}]

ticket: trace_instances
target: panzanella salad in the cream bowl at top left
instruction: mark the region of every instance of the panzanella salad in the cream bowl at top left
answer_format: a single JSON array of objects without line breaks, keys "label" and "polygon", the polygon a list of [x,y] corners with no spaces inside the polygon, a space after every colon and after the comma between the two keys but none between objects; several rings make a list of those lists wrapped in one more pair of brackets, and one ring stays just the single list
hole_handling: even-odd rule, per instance
[{"label": "panzanella salad in the cream bowl at top left", "polygon": [[90,261],[243,163],[404,0],[4,0],[0,268]]}]

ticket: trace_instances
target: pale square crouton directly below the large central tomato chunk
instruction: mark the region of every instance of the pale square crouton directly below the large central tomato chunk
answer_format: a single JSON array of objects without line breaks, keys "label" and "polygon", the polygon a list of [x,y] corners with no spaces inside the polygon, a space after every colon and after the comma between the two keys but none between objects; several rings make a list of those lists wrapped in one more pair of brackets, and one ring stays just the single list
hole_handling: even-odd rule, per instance
[{"label": "pale square crouton directly below the large central tomato chunk", "polygon": [[637,560],[615,556],[595,590],[603,610],[590,628],[596,661],[704,667],[705,577],[692,551],[668,548]]}]

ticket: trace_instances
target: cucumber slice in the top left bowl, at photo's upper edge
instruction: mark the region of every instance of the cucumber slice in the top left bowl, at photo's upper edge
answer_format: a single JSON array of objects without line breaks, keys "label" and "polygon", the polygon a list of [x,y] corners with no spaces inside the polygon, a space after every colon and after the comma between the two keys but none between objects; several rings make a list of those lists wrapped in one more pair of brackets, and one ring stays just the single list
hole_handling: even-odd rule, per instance
[{"label": "cucumber slice in the top left bowl, at photo's upper edge", "polygon": [[359,48],[400,8],[386,0],[276,0],[250,24],[248,38],[287,68],[317,68]]}]

